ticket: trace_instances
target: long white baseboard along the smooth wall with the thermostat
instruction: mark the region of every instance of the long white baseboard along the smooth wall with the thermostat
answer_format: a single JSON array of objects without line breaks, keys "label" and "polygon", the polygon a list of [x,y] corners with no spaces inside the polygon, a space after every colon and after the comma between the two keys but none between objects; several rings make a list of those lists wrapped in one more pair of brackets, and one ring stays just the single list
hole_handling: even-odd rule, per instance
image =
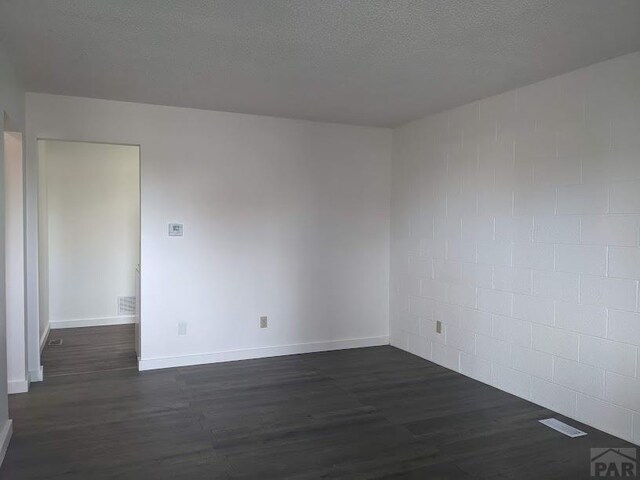
[{"label": "long white baseboard along the smooth wall with the thermostat", "polygon": [[281,355],[295,355],[298,353],[326,352],[329,350],[345,350],[348,348],[376,347],[388,345],[389,337],[354,338],[330,342],[299,343],[281,345],[277,347],[249,348],[244,350],[228,350],[225,352],[201,353],[182,355],[178,357],[144,358],[138,361],[138,369],[156,370],[160,368],[186,367],[189,365],[203,365],[207,363],[231,362],[248,360],[251,358],[278,357]]}]

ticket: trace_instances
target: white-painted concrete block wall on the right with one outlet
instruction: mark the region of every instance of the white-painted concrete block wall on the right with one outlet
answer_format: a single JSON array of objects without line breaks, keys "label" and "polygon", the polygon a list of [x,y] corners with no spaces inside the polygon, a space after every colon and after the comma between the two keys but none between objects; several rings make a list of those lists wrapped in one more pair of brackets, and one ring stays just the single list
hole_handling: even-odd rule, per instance
[{"label": "white-painted concrete block wall on the right with one outlet", "polygon": [[640,444],[640,52],[396,129],[392,177],[392,344]]}]

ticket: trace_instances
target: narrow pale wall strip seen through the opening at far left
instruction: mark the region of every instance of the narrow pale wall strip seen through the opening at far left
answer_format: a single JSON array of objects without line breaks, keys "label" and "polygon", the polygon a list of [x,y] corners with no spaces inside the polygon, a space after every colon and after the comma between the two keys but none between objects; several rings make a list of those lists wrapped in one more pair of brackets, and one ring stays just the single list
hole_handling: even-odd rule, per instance
[{"label": "narrow pale wall strip seen through the opening at far left", "polygon": [[4,134],[7,380],[9,393],[29,388],[24,303],[22,135]]}]

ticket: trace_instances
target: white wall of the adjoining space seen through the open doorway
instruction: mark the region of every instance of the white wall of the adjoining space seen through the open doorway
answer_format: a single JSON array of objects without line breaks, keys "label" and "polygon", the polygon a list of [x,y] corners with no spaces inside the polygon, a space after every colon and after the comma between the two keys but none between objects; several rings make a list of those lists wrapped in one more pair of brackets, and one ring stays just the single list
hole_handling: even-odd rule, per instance
[{"label": "white wall of the adjoining space seen through the open doorway", "polygon": [[[40,170],[46,179],[40,248],[48,260],[51,328],[132,321],[118,314],[117,301],[135,295],[140,261],[139,147],[40,143],[46,169],[44,175]],[[43,272],[42,261],[40,267]],[[41,283],[41,298],[43,291]]]}]

